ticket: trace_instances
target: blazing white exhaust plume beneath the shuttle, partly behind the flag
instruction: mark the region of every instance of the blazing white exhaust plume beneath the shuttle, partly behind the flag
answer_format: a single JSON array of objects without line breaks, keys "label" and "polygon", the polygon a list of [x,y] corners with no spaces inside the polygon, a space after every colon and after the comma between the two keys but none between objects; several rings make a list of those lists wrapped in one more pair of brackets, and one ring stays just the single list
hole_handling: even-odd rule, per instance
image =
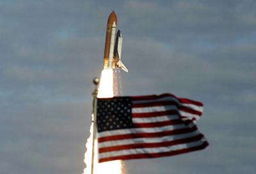
[{"label": "blazing white exhaust plume beneath the shuttle, partly behind the flag", "polygon": [[[118,84],[118,83],[116,83]],[[108,98],[113,97],[116,87],[116,84],[113,84],[113,70],[112,69],[104,69],[101,72],[99,91],[97,97],[99,98]],[[84,168],[83,174],[91,174],[91,165],[92,165],[92,131],[93,126],[90,128],[90,137],[86,142],[86,152],[84,154],[84,163],[86,164],[86,168]],[[122,170],[122,161],[109,161],[109,162],[101,162],[98,163],[98,152],[97,152],[97,139],[94,139],[95,147],[94,147],[94,174],[122,174],[124,173]]]}]

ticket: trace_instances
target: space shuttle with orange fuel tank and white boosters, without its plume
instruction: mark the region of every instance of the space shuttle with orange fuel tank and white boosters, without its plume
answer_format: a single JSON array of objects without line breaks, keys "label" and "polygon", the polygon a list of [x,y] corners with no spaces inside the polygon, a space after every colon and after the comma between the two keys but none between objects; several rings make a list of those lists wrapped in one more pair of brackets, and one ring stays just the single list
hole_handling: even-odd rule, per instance
[{"label": "space shuttle with orange fuel tank and white boosters, without its plume", "polygon": [[104,68],[122,68],[122,70],[128,72],[128,69],[121,61],[123,37],[120,30],[116,32],[116,28],[117,17],[116,13],[113,11],[108,17],[108,24],[106,29]]}]

